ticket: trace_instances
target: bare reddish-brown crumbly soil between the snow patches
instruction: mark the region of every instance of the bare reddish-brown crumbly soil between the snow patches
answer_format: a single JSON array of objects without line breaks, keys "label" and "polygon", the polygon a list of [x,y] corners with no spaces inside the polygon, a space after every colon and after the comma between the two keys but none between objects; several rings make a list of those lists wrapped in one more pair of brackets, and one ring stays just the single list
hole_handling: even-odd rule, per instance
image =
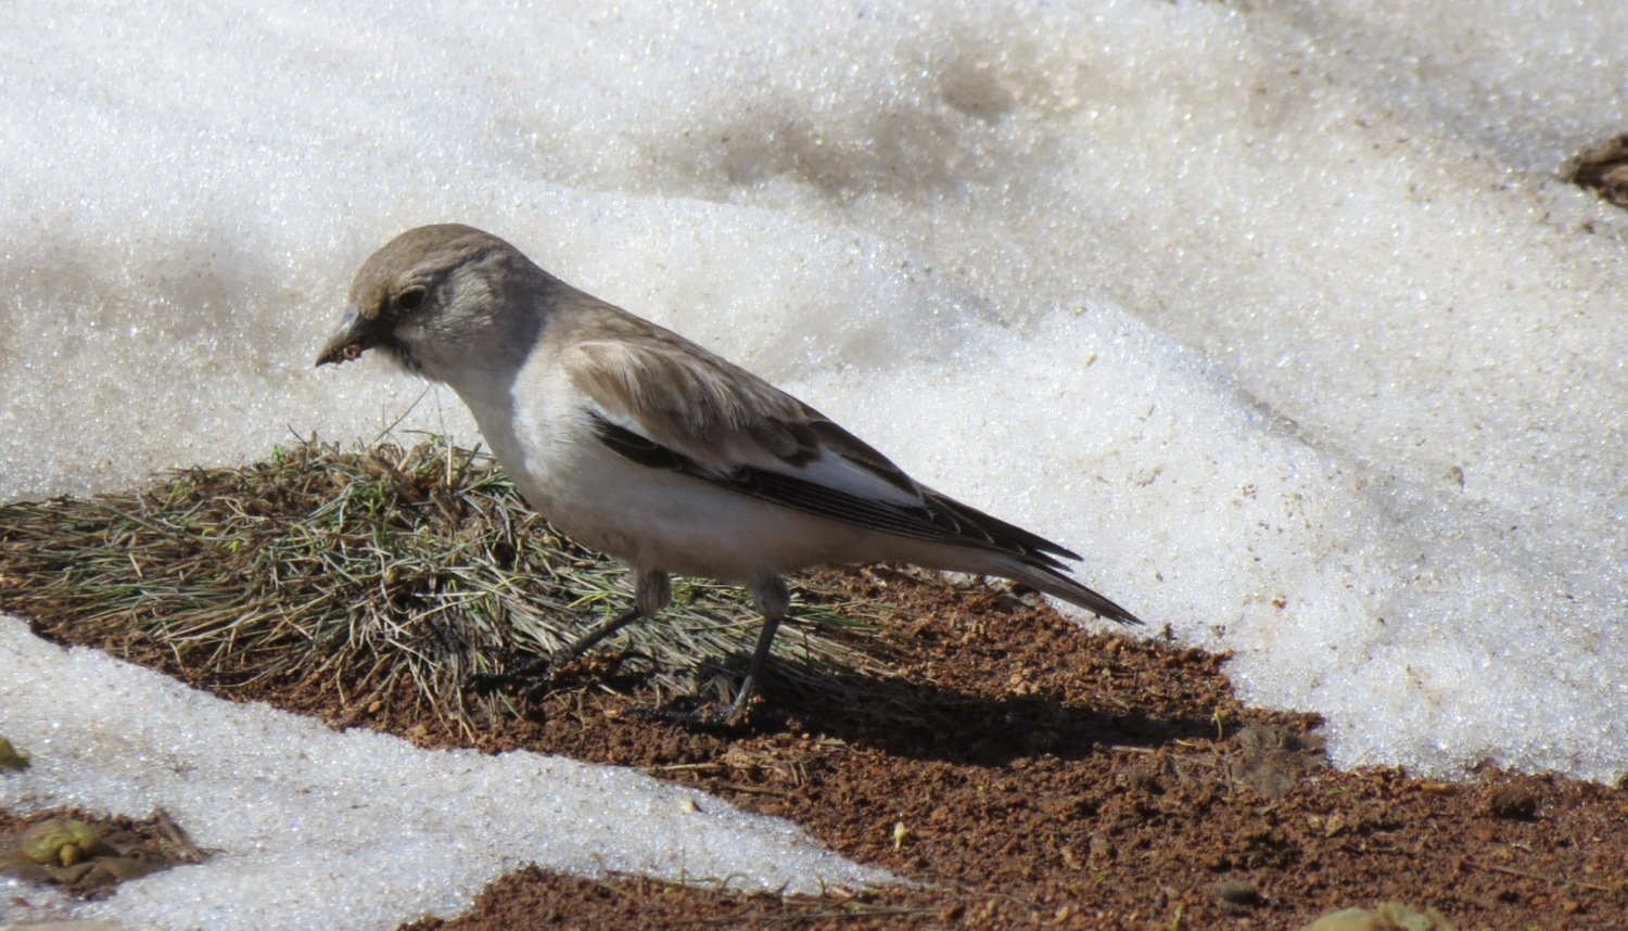
[{"label": "bare reddish-brown crumbly soil between the snow patches", "polygon": [[921,884],[780,898],[529,868],[420,929],[1301,928],[1384,900],[1460,929],[1628,926],[1628,793],[1335,771],[1317,721],[1244,708],[1221,658],[1086,633],[1004,589],[835,578],[899,609],[915,641],[902,679],[853,677],[842,706],[770,679],[728,734],[641,719],[656,698],[609,654],[472,742],[405,690],[365,706],[344,684],[231,695],[427,747],[640,767]]}]

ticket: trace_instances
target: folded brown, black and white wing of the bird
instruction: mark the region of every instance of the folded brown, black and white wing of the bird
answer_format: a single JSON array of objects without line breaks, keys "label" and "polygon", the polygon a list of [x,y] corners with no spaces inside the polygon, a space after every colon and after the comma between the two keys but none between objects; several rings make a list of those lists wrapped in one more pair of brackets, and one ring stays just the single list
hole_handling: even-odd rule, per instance
[{"label": "folded brown, black and white wing of the bird", "polygon": [[[606,306],[606,309],[612,309]],[[632,314],[594,314],[563,365],[617,454],[762,501],[1057,570],[1066,549],[910,479],[830,418]],[[602,332],[601,332],[602,330]]]}]

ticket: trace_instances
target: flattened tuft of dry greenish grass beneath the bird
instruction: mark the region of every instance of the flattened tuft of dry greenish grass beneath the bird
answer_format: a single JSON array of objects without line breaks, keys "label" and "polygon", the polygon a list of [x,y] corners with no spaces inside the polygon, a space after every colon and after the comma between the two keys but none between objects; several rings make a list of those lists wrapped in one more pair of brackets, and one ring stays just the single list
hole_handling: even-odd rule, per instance
[{"label": "flattened tuft of dry greenish grass beneath the bird", "polygon": [[[488,456],[438,438],[301,443],[132,493],[0,505],[0,609],[217,688],[332,677],[384,692],[405,675],[464,728],[505,702],[475,697],[472,675],[567,645],[628,602],[627,576],[549,527]],[[882,607],[799,594],[775,643],[785,685],[891,675]],[[721,697],[720,661],[751,651],[759,617],[729,586],[682,579],[674,596],[614,643],[659,685]]]}]

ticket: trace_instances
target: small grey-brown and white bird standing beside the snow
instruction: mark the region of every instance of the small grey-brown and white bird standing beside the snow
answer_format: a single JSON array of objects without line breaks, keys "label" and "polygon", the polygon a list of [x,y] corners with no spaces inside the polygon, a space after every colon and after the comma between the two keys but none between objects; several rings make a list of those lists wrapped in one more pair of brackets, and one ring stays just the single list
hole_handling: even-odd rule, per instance
[{"label": "small grey-brown and white bird standing beside the snow", "polygon": [[786,573],[804,568],[1000,576],[1141,623],[1065,573],[1079,555],[917,482],[819,410],[482,229],[418,226],[363,262],[316,365],[370,350],[451,387],[526,501],[632,568],[627,610],[523,671],[544,682],[656,617],[672,575],[744,586],[764,618],[734,700],[694,713],[705,724],[749,708],[791,605]]}]

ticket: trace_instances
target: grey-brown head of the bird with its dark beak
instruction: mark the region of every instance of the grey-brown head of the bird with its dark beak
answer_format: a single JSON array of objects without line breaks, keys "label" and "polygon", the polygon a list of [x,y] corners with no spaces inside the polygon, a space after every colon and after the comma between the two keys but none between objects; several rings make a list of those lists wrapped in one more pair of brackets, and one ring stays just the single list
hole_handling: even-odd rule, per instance
[{"label": "grey-brown head of the bird with its dark beak", "polygon": [[350,283],[339,330],[316,365],[370,348],[433,381],[470,361],[521,358],[557,280],[519,249],[461,223],[418,226],[374,252]]}]

